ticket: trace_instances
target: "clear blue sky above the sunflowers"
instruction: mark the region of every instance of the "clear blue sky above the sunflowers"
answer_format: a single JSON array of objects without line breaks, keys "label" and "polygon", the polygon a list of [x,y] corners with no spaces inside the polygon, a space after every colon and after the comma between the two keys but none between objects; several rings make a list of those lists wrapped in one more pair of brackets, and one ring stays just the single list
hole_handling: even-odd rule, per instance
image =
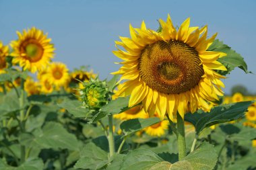
[{"label": "clear blue sky above the sunflowers", "polygon": [[[117,71],[119,59],[112,53],[119,36],[129,36],[129,24],[141,21],[153,30],[157,19],[170,13],[174,26],[191,17],[191,26],[209,27],[209,35],[240,53],[249,71],[256,73],[256,1],[96,1],[96,0],[0,0],[0,40],[9,44],[15,32],[36,26],[49,33],[56,48],[54,61],[64,62],[70,70],[90,65],[100,78]],[[256,75],[235,69],[224,81],[226,93],[236,84],[256,92]]]}]

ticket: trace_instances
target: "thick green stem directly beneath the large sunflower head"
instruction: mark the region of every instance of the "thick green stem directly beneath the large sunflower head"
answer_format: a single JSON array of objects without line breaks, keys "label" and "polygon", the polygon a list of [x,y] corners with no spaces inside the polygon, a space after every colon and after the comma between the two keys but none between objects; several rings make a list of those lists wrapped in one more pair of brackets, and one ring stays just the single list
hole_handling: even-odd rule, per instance
[{"label": "thick green stem directly beneath the large sunflower head", "polygon": [[178,148],[179,161],[186,157],[186,141],[185,141],[185,126],[184,120],[181,118],[179,112],[177,113],[177,130],[178,130]]}]

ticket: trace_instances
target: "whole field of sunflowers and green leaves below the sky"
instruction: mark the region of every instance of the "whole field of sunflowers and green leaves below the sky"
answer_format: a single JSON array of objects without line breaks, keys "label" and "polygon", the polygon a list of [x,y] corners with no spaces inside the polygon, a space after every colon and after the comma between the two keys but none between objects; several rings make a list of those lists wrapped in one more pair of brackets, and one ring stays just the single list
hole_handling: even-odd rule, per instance
[{"label": "whole field of sunflowers and green leaves below the sky", "polygon": [[0,169],[256,169],[256,96],[222,83],[244,58],[190,18],[158,22],[115,42],[112,79],[53,62],[38,28],[0,42]]}]

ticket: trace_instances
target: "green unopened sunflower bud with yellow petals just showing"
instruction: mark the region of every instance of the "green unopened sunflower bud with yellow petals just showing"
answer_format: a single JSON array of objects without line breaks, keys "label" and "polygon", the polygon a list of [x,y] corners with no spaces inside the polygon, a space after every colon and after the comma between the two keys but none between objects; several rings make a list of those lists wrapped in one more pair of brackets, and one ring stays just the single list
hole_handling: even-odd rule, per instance
[{"label": "green unopened sunflower bud with yellow petals just showing", "polygon": [[110,100],[110,91],[106,81],[100,81],[98,78],[83,82],[84,89],[80,89],[81,99],[90,110],[100,110]]}]

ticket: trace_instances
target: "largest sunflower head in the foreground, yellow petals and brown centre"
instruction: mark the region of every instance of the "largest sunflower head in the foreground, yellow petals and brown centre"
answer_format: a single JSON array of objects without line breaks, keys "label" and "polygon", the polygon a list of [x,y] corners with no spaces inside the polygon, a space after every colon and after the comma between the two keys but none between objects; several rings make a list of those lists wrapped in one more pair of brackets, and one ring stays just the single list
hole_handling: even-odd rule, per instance
[{"label": "largest sunflower head in the foreground, yellow petals and brown centre", "polygon": [[178,31],[169,15],[167,22],[159,22],[161,32],[147,29],[142,22],[141,28],[130,26],[131,38],[120,37],[121,42],[116,42],[113,53],[124,61],[113,74],[127,79],[119,93],[131,95],[129,107],[142,101],[150,116],[158,112],[161,119],[166,112],[170,118],[177,111],[184,117],[186,112],[209,108],[223,95],[220,78],[225,77],[214,70],[226,71],[217,61],[226,54],[207,51],[217,34],[207,39],[207,26],[189,28],[189,18]]}]

